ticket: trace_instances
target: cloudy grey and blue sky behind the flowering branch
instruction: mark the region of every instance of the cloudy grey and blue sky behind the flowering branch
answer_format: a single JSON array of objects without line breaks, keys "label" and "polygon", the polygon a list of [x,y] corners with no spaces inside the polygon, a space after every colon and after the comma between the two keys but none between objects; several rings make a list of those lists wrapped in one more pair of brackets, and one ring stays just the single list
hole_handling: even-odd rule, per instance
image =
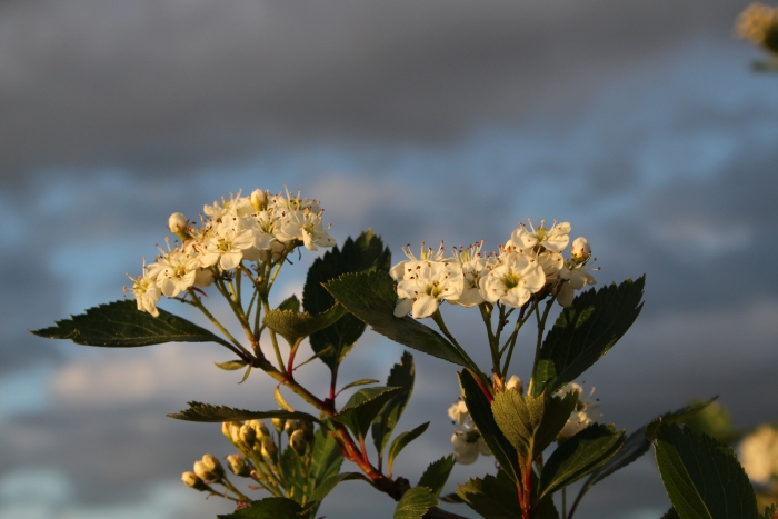
[{"label": "cloudy grey and blue sky behind the flowering branch", "polygon": [[[28,330],[120,299],[171,212],[196,218],[239,189],[301,187],[339,243],[369,227],[395,259],[407,243],[492,250],[527,218],[569,221],[599,286],[647,276],[638,321],[586,373],[606,421],[631,431],[715,395],[742,428],[778,419],[778,76],[752,72],[761,54],[732,36],[746,6],[0,3],[0,519],[230,511],[180,482],[203,453],[230,452],[218,426],[164,415],[189,400],[272,409],[268,377],[238,386],[213,345],[102,350]],[[300,293],[313,258],[285,270],[278,300]],[[477,321],[446,311],[488,365]],[[343,380],[383,380],[401,355],[366,333]],[[415,359],[398,430],[431,425],[397,462],[411,482],[451,452],[458,396],[453,366]],[[530,367],[525,350],[515,370]],[[457,466],[447,491],[489,471]],[[390,517],[362,485],[321,515]],[[667,508],[647,456],[576,517]]]}]

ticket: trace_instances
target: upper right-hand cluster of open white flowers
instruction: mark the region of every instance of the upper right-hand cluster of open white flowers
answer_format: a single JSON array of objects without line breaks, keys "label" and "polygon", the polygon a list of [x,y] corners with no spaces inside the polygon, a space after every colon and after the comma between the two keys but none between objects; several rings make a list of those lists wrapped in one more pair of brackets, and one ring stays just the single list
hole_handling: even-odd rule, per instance
[{"label": "upper right-hand cluster of open white flowers", "polygon": [[473,307],[483,302],[520,308],[540,293],[553,293],[561,306],[572,302],[575,290],[594,285],[586,269],[591,249],[586,238],[572,242],[569,258],[562,251],[570,241],[568,222],[535,229],[523,223],[498,252],[482,253],[482,242],[455,249],[447,256],[442,242],[437,251],[421,244],[419,258],[410,247],[407,260],[391,269],[399,297],[395,316],[409,312],[415,319],[432,316],[446,300],[452,305]]}]

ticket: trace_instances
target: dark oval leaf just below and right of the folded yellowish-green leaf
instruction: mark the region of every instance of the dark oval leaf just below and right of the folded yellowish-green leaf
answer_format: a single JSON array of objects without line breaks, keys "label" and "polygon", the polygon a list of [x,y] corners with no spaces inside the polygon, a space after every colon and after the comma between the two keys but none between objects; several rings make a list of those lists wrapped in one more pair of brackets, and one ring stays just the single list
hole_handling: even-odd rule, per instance
[{"label": "dark oval leaf just below and right of the folded yellowish-green leaf", "polygon": [[538,498],[551,495],[601,467],[624,445],[625,432],[591,425],[560,445],[540,473]]}]

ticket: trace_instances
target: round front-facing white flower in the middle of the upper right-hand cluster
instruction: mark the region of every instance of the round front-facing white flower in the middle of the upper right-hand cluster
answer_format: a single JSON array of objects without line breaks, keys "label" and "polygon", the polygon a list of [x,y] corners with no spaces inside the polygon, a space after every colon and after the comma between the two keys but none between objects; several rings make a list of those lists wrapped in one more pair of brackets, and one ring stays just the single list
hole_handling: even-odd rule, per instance
[{"label": "round front-facing white flower in the middle of the upper right-hand cluster", "polygon": [[535,258],[513,252],[481,279],[481,296],[489,302],[520,308],[546,285],[546,275]]}]

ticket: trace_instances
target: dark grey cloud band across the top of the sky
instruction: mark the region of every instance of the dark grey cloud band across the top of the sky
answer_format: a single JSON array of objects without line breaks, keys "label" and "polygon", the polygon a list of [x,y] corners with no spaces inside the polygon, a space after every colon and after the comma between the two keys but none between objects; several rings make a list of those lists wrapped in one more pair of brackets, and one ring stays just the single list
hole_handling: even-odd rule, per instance
[{"label": "dark grey cloud band across the top of the sky", "polygon": [[741,2],[107,2],[0,7],[0,169],[188,171],[305,141],[449,139],[699,33]]}]

